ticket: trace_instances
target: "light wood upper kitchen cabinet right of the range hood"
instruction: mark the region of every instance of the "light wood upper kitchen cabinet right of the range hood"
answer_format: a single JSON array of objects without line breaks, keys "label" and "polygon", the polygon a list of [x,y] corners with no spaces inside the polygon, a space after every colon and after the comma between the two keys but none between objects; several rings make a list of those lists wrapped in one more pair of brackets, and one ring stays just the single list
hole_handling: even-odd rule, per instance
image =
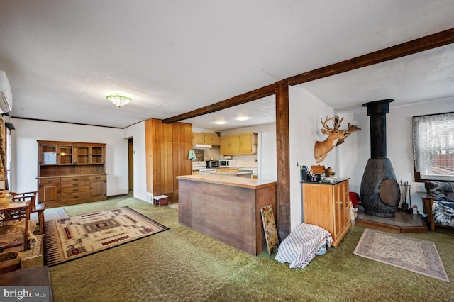
[{"label": "light wood upper kitchen cabinet right of the range hood", "polygon": [[221,155],[256,154],[257,145],[257,133],[221,136]]}]

